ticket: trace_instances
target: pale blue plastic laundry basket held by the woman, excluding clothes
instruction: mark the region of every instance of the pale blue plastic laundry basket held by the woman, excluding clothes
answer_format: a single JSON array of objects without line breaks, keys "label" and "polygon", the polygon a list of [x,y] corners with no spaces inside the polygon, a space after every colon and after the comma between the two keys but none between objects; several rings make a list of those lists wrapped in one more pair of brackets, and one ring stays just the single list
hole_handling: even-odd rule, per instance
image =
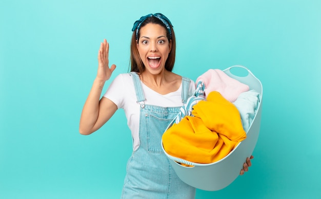
[{"label": "pale blue plastic laundry basket held by the woman, excluding clothes", "polygon": [[[239,77],[232,74],[231,69],[234,67],[247,70],[248,75]],[[250,90],[255,90],[260,94],[256,114],[247,131],[247,138],[240,142],[225,158],[210,164],[192,163],[191,167],[183,166],[172,160],[170,158],[171,156],[165,151],[162,141],[163,151],[167,155],[168,160],[178,177],[190,186],[207,191],[223,189],[237,178],[240,170],[243,168],[243,163],[247,157],[251,156],[256,145],[262,113],[262,83],[250,72],[250,70],[242,65],[234,65],[225,69],[223,72],[228,76],[249,85]]]}]

